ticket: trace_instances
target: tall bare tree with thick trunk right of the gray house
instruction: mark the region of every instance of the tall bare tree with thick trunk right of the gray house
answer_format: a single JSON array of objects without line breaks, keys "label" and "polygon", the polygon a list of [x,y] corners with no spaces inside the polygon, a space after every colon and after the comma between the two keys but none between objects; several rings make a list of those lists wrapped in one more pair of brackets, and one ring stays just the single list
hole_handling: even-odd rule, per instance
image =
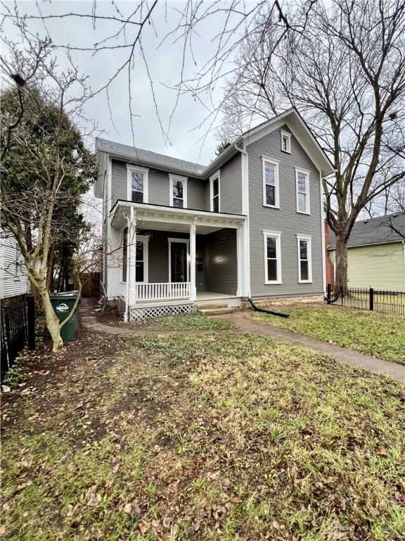
[{"label": "tall bare tree with thick trunk right of the gray house", "polygon": [[[305,4],[285,14],[291,25]],[[323,179],[337,237],[336,287],[347,287],[347,241],[359,213],[405,178],[405,4],[334,0],[312,6],[304,32],[274,49],[248,37],[226,86],[221,138],[295,106],[335,164]],[[237,128],[235,130],[235,128]]]}]

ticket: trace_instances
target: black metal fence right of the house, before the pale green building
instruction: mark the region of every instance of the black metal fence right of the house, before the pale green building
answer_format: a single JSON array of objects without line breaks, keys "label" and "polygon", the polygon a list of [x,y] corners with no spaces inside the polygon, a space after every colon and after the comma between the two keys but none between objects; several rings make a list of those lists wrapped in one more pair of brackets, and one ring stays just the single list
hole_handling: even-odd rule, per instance
[{"label": "black metal fence right of the house, before the pale green building", "polygon": [[[328,284],[327,296],[328,299],[335,298],[335,291],[330,284]],[[348,287],[347,294],[340,295],[335,302],[330,304],[405,316],[405,291],[375,290],[373,287]]]}]

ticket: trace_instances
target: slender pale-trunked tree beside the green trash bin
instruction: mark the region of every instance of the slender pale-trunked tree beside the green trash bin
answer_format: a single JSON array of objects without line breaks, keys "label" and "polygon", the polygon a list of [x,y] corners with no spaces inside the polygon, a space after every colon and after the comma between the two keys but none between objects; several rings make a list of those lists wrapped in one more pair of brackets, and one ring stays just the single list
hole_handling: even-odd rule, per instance
[{"label": "slender pale-trunked tree beside the green trash bin", "polygon": [[[68,319],[59,323],[46,284],[51,244],[63,228],[63,220],[56,226],[56,211],[70,201],[77,204],[79,194],[96,176],[96,160],[84,147],[75,124],[82,118],[82,105],[88,97],[85,77],[73,65],[59,73],[55,59],[44,54],[47,48],[46,43],[35,47],[29,42],[22,51],[13,45],[8,60],[2,62],[10,77],[18,66],[23,80],[33,64],[37,70],[35,85],[24,85],[23,94],[18,87],[1,96],[1,142],[7,145],[1,161],[1,227],[18,243],[32,287],[41,296],[53,351],[57,352],[63,347],[60,328]],[[20,118],[17,124],[10,120],[15,116]]]}]

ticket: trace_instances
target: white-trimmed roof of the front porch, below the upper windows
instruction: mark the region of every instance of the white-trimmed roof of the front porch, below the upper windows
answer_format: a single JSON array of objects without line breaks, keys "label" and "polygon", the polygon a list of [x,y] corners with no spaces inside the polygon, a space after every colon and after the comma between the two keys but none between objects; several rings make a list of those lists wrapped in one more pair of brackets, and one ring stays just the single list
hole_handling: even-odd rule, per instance
[{"label": "white-trimmed roof of the front porch, below the upper windows", "polygon": [[118,199],[110,211],[113,227],[124,228],[131,208],[136,212],[139,228],[169,231],[188,231],[191,223],[201,228],[199,233],[210,233],[224,228],[238,228],[247,216],[224,212],[198,211],[195,209],[177,209],[173,206],[150,203],[134,203]]}]

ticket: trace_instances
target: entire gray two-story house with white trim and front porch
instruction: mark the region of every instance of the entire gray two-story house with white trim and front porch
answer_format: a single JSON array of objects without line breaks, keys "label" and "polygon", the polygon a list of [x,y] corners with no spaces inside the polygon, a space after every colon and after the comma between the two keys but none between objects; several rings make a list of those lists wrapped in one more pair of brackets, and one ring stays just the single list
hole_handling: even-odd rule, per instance
[{"label": "entire gray two-story house with white trim and front porch", "polygon": [[322,181],[333,165],[295,109],[208,166],[96,139],[106,297],[129,320],[319,295]]}]

